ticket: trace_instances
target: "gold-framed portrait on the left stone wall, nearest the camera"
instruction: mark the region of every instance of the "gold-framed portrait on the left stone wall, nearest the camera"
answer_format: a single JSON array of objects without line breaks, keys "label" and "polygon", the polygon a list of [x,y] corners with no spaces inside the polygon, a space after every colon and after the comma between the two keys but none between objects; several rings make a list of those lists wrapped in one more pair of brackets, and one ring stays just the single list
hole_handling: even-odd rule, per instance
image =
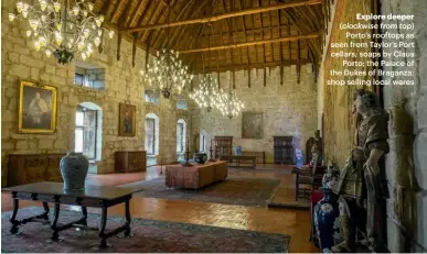
[{"label": "gold-framed portrait on the left stone wall, nearest the camera", "polygon": [[51,134],[56,131],[56,87],[21,80],[18,132]]}]

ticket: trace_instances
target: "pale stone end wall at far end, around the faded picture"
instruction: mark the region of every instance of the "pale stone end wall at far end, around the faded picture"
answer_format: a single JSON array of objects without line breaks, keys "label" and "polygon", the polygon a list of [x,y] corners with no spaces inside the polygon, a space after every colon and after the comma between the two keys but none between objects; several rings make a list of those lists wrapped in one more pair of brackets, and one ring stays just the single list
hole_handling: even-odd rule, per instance
[{"label": "pale stone end wall at far end, around the faded picture", "polygon": [[[193,134],[204,130],[211,137],[231,135],[233,146],[242,145],[243,151],[265,152],[267,163],[273,163],[274,158],[274,135],[297,136],[300,139],[300,147],[305,151],[306,141],[313,136],[317,130],[317,87],[311,65],[301,67],[300,84],[297,84],[296,66],[285,67],[284,86],[280,86],[278,67],[270,73],[267,69],[266,87],[263,70],[250,73],[250,88],[247,70],[235,73],[235,91],[245,104],[244,111],[263,113],[263,139],[242,139],[242,114],[228,119],[217,110],[194,111]],[[216,74],[213,74],[213,77],[216,77]],[[231,77],[231,73],[221,73],[223,89],[228,90]],[[202,76],[198,78],[201,79]]]}]

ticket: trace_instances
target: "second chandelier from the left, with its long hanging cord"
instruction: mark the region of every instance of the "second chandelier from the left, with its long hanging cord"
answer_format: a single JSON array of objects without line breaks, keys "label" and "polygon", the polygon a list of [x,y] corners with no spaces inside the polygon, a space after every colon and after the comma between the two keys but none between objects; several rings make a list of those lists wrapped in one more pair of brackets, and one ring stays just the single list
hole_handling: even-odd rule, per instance
[{"label": "second chandelier from the left, with its long hanging cord", "polygon": [[[188,66],[179,59],[180,53],[170,48],[170,1],[168,1],[168,44],[157,52],[157,58],[147,64],[147,70],[141,70],[142,78],[151,86],[160,89],[166,99],[173,90],[181,93],[185,85],[190,84],[193,75],[188,74]],[[147,53],[148,54],[148,53]]]}]

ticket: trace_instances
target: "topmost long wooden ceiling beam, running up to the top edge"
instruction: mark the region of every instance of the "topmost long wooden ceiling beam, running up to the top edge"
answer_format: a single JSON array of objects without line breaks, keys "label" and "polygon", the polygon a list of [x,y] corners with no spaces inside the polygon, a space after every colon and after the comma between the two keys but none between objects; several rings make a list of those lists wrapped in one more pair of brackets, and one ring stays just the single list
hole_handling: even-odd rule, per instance
[{"label": "topmost long wooden ceiling beam, running up to the top edge", "polygon": [[153,24],[153,25],[143,25],[139,27],[129,29],[126,32],[138,32],[138,31],[152,30],[152,29],[164,29],[168,26],[171,27],[171,26],[179,26],[179,25],[185,25],[185,24],[215,22],[215,21],[220,21],[223,19],[233,18],[233,16],[256,14],[256,13],[266,12],[266,11],[275,11],[279,9],[296,8],[301,5],[312,5],[312,4],[320,4],[320,3],[322,3],[322,0],[298,0],[298,1],[285,2],[285,3],[274,4],[274,5],[252,8],[243,11],[235,11],[226,14],[213,15],[207,18],[177,21],[177,22],[171,22],[170,24],[161,23],[161,24]]}]

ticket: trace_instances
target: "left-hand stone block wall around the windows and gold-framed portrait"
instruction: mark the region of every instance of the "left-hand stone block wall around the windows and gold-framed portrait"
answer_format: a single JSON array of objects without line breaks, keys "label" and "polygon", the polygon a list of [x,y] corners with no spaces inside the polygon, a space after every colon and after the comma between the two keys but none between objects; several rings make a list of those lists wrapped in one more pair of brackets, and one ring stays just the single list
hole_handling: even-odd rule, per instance
[{"label": "left-hand stone block wall around the windows and gold-framed portrait", "polygon": [[[116,40],[107,41],[103,54],[97,51],[87,59],[105,68],[105,90],[74,86],[75,60],[70,65],[57,64],[55,58],[47,58],[38,53],[25,30],[8,20],[8,10],[13,2],[2,2],[1,44],[2,44],[2,124],[1,124],[1,162],[2,186],[7,183],[8,154],[11,153],[65,153],[74,150],[74,129],[76,107],[82,102],[94,102],[103,109],[102,159],[97,162],[97,173],[114,172],[114,154],[116,151],[145,150],[145,84],[139,70],[143,64],[137,60],[131,65],[131,44],[121,42],[120,60],[116,58]],[[77,56],[77,58],[79,58]],[[145,52],[137,49],[137,59],[145,59]],[[18,98],[19,80],[32,80],[57,88],[57,126],[54,134],[19,134],[18,133]],[[127,102],[137,108],[136,136],[118,136],[119,103]],[[177,161],[175,121],[185,118],[186,113],[177,110],[175,100],[162,100],[158,106],[161,132],[160,153],[164,154],[163,163]]]}]

